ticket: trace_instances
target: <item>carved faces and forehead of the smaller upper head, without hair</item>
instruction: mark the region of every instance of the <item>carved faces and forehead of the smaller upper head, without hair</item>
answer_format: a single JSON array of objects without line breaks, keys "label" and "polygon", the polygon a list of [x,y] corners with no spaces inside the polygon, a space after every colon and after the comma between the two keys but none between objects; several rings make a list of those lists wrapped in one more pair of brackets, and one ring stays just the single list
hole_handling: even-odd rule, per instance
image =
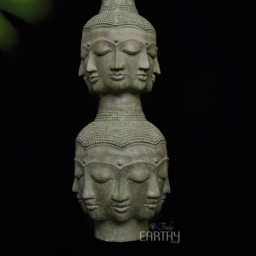
[{"label": "carved faces and forehead of the smaller upper head, without hair", "polygon": [[91,93],[150,92],[157,61],[156,36],[137,28],[96,28],[84,32],[79,76]]}]

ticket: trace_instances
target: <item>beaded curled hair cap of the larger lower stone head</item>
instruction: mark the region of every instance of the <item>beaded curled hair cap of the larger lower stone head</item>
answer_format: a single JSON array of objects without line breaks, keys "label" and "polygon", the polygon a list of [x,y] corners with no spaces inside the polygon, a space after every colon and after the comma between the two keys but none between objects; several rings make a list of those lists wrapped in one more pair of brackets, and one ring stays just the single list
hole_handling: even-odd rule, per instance
[{"label": "beaded curled hair cap of the larger lower stone head", "polygon": [[76,138],[76,144],[84,148],[95,144],[111,144],[120,148],[135,144],[156,146],[163,142],[163,134],[148,122],[142,111],[104,111],[84,127]]}]

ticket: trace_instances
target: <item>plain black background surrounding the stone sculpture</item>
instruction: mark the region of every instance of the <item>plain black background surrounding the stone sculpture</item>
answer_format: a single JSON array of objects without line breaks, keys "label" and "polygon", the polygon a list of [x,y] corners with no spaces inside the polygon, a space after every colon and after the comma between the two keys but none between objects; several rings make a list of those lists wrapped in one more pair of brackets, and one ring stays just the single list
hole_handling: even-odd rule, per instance
[{"label": "plain black background surrounding the stone sculpture", "polygon": [[149,223],[173,222],[180,243],[107,243],[71,191],[74,142],[98,109],[78,69],[100,1],[52,2],[40,24],[4,13],[20,37],[1,53],[3,255],[252,255],[252,6],[136,1],[156,29],[161,69],[142,108],[170,158],[171,193]]}]

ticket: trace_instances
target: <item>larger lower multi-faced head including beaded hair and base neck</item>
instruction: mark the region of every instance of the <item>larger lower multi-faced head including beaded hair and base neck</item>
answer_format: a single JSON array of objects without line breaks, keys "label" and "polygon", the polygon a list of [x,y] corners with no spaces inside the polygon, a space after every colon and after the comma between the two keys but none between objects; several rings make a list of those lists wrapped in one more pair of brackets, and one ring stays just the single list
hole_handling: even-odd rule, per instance
[{"label": "larger lower multi-faced head including beaded hair and base neck", "polygon": [[[164,136],[142,112],[98,113],[76,138],[73,185],[95,236],[131,241],[148,231],[170,192],[167,170]],[[120,236],[124,225],[132,231]]]}]

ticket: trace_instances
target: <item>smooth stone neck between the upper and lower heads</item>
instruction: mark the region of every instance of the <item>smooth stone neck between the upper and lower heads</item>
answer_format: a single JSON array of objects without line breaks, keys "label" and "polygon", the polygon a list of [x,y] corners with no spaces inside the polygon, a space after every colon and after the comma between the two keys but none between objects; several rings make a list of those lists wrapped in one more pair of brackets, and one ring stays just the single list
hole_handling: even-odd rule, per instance
[{"label": "smooth stone neck between the upper and lower heads", "polygon": [[98,111],[103,110],[142,111],[140,94],[130,92],[101,94]]}]

